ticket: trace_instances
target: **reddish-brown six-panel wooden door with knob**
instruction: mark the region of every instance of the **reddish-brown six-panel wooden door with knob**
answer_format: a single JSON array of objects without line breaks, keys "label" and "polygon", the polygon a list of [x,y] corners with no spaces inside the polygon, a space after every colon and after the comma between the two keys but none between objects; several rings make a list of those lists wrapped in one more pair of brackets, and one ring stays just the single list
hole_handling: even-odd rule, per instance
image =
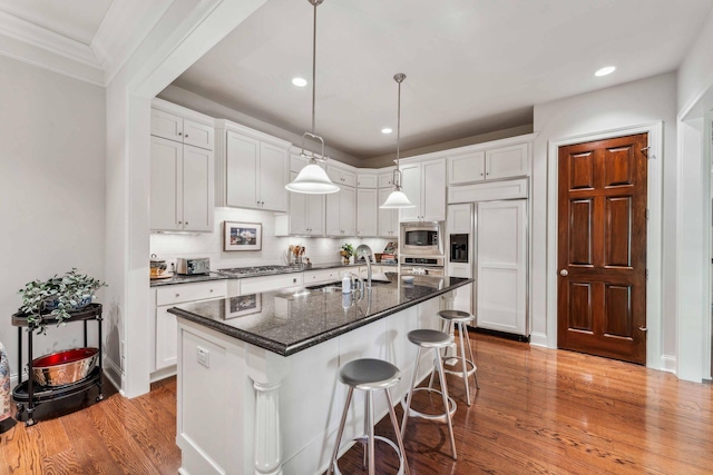
[{"label": "reddish-brown six-panel wooden door with knob", "polygon": [[557,345],[646,363],[646,133],[559,148]]}]

